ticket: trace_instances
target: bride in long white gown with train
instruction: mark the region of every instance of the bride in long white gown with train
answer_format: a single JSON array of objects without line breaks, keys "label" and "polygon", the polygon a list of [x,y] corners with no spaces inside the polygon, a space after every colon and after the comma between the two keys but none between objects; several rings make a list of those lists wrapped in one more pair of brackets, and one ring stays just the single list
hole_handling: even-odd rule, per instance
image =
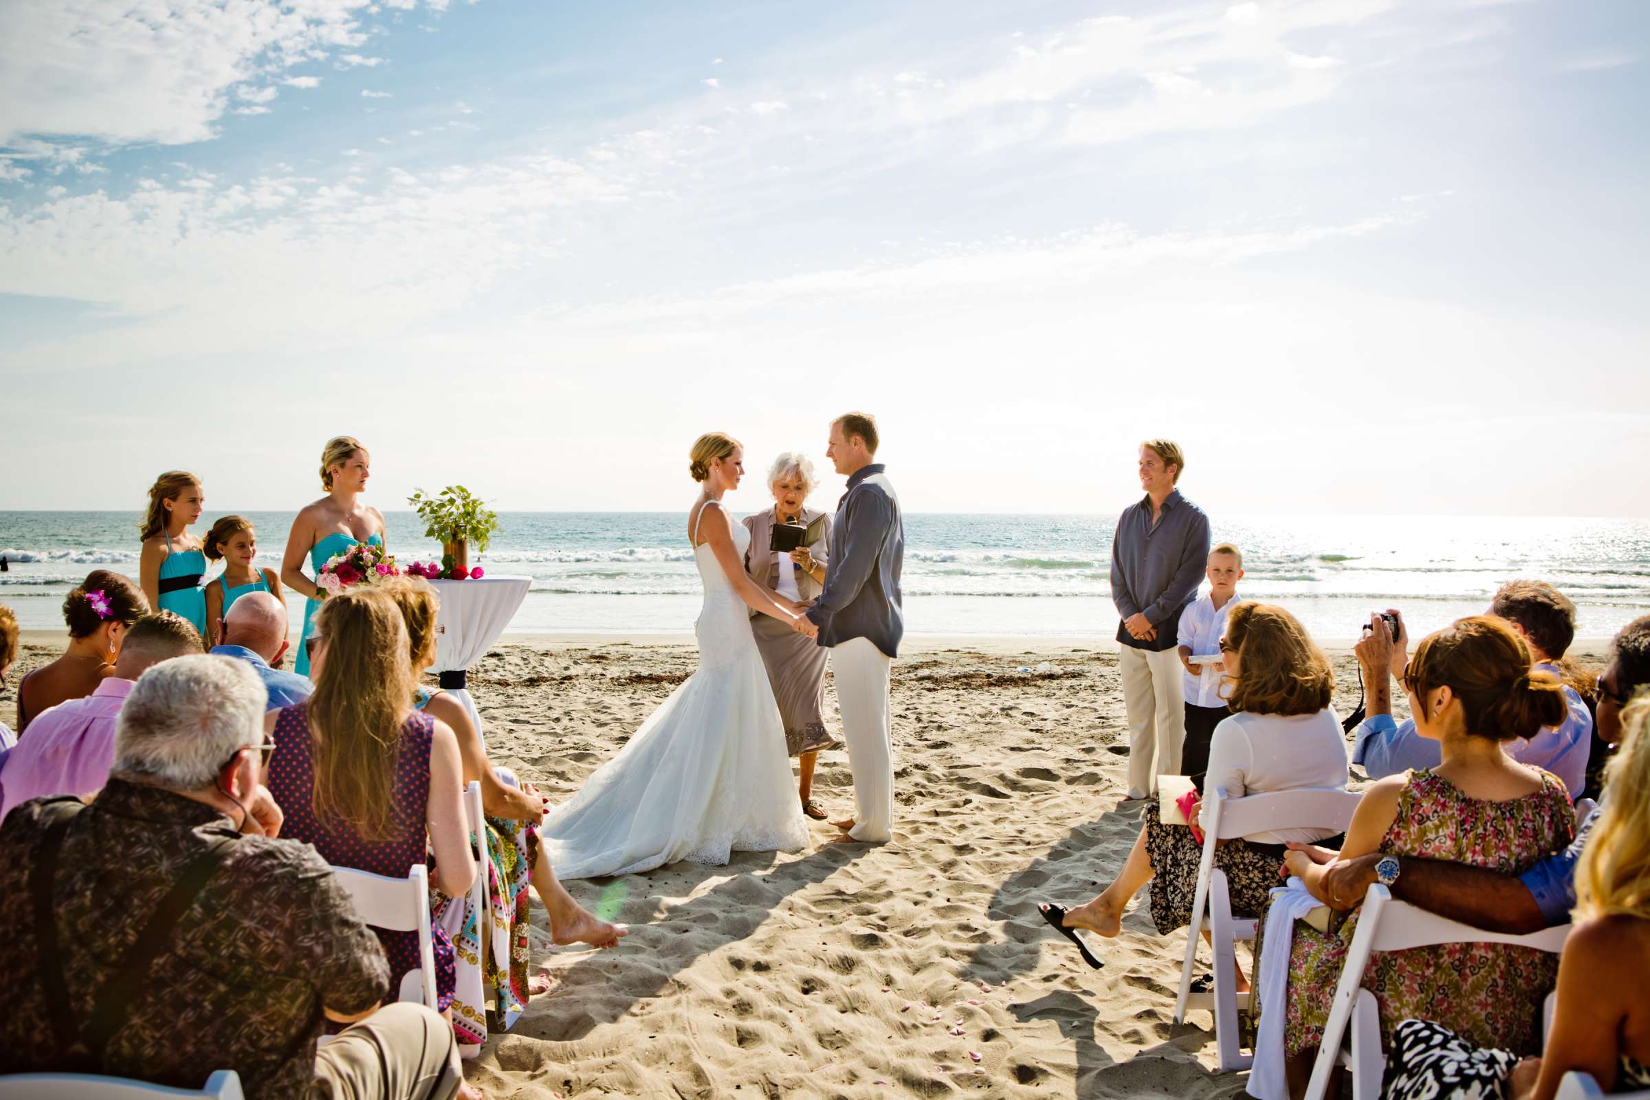
[{"label": "bride in long white gown with train", "polygon": [[571,800],[540,826],[559,879],[630,874],[731,851],[794,851],[807,843],[790,788],[785,729],[746,607],[813,633],[799,607],[757,587],[744,569],[751,533],[721,498],[744,477],[744,449],[721,432],[693,444],[705,491],[688,513],[688,543],[705,584],[693,632],[700,668]]}]

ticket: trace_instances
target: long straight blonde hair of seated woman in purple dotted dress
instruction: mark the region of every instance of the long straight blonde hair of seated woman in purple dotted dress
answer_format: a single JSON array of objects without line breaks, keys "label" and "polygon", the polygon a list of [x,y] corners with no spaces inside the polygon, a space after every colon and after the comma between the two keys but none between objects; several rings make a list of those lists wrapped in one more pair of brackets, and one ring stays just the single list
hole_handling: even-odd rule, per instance
[{"label": "long straight blonde hair of seated woman in purple dotted dress", "polygon": [[327,660],[309,699],[310,805],[361,839],[393,839],[412,825],[393,801],[401,724],[412,706],[401,609],[370,587],[346,589],[322,602],[315,635],[327,638]]}]

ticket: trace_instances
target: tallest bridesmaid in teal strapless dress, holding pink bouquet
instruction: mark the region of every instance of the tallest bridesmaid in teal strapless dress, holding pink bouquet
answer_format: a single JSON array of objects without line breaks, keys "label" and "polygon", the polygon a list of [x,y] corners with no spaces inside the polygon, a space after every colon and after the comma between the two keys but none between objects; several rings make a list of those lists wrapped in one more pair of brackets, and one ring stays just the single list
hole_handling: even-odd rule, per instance
[{"label": "tallest bridesmaid in teal strapless dress, holding pink bouquet", "polygon": [[320,485],[327,495],[299,511],[287,536],[287,552],[280,559],[280,581],[309,597],[304,605],[304,633],[299,640],[299,656],[294,670],[309,675],[309,651],[304,640],[310,637],[315,609],[320,607],[315,581],[304,574],[304,556],[318,574],[333,554],[342,554],[356,543],[384,544],[384,518],[376,508],[360,501],[371,473],[371,458],[361,440],[353,435],[337,435],[327,440],[320,452]]}]

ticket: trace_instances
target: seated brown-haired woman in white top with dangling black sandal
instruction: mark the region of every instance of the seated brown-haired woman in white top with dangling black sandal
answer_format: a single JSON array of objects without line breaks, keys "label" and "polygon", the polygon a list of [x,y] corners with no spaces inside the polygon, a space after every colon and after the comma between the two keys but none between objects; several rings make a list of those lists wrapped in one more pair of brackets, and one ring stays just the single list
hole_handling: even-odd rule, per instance
[{"label": "seated brown-haired woman in white top with dangling black sandal", "polygon": [[[1346,742],[1330,709],[1335,673],[1295,617],[1269,604],[1238,604],[1226,618],[1221,653],[1226,678],[1233,681],[1233,714],[1209,739],[1204,793],[1224,788],[1228,797],[1241,798],[1300,788],[1345,790]],[[1196,813],[1201,815],[1201,806]],[[1280,830],[1221,844],[1214,866],[1226,872],[1233,912],[1252,917],[1266,907],[1284,866],[1285,841],[1310,843],[1332,831]],[[1061,932],[1087,928],[1114,937],[1129,899],[1150,882],[1152,924],[1158,935],[1168,935],[1191,920],[1201,859],[1203,844],[1191,830],[1163,825],[1158,805],[1150,801],[1145,828],[1117,879],[1069,912],[1041,905],[1043,917]],[[1247,988],[1241,971],[1238,988]]]}]

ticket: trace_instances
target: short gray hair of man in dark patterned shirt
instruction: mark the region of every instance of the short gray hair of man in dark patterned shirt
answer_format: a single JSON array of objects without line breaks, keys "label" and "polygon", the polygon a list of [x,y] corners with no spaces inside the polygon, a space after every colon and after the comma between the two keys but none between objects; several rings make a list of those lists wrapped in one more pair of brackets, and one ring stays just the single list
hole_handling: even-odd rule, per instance
[{"label": "short gray hair of man in dark patterned shirt", "polygon": [[114,724],[112,775],[172,790],[211,787],[238,749],[264,742],[269,693],[233,656],[177,656],[139,676]]}]

